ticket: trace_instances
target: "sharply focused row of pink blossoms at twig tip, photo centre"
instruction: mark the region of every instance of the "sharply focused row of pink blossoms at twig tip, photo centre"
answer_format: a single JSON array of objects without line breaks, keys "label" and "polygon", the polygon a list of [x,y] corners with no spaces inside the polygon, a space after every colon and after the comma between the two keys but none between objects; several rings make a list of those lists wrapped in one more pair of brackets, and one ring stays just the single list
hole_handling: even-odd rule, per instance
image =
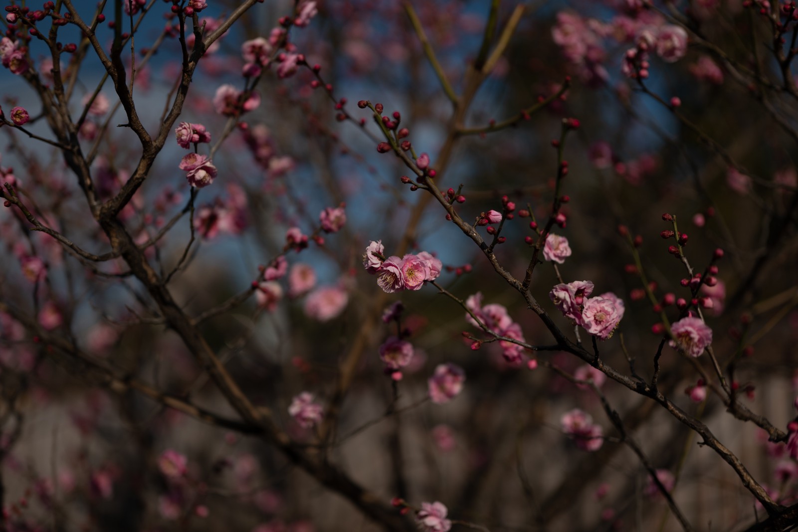
[{"label": "sharply focused row of pink blossoms at twig tip, photo centre", "polygon": [[363,266],[369,274],[377,275],[377,285],[388,292],[419,290],[425,281],[434,281],[440,275],[443,263],[426,251],[406,254],[399,258],[385,258],[381,240],[372,241],[363,254]]}]

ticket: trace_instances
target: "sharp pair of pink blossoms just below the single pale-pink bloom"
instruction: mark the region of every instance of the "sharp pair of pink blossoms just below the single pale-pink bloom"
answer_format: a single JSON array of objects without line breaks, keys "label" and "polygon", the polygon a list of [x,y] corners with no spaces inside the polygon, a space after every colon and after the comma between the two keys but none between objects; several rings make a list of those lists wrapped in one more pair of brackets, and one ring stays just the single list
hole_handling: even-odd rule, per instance
[{"label": "sharp pair of pink blossoms just below the single pale-pink bloom", "polygon": [[590,281],[574,281],[555,285],[549,298],[565,317],[582,326],[601,340],[612,337],[626,308],[615,294],[607,292],[595,298]]}]

